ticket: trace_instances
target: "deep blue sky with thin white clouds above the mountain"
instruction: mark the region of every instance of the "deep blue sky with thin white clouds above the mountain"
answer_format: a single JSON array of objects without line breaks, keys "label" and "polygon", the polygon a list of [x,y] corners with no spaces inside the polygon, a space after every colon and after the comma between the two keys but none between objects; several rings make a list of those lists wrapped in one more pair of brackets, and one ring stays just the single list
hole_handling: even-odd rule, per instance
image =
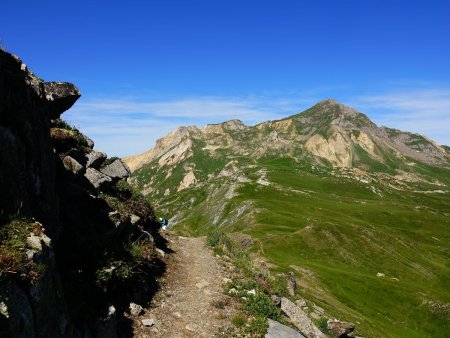
[{"label": "deep blue sky with thin white clouds above the mountain", "polygon": [[4,47],[82,98],[63,117],[109,155],[179,125],[248,124],[332,97],[450,144],[450,4],[3,0]]}]

